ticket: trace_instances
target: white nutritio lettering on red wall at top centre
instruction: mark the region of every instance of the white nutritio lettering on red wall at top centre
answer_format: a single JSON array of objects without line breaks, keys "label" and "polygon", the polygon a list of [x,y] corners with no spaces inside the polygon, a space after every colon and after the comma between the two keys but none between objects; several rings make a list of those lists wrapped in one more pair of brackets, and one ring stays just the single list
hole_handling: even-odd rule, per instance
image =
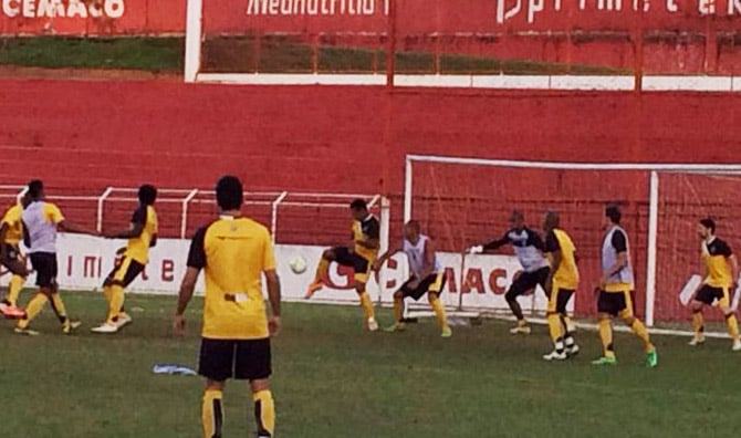
[{"label": "white nutritio lettering on red wall at top centre", "polygon": [[248,15],[388,14],[389,0],[249,0]]}]

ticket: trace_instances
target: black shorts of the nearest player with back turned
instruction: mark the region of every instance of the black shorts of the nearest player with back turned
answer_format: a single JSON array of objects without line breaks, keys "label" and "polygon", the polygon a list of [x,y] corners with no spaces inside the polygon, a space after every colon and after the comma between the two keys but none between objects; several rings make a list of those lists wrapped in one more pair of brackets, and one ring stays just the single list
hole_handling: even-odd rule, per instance
[{"label": "black shorts of the nearest player with back turned", "polygon": [[198,374],[217,382],[268,378],[272,374],[270,338],[232,341],[203,337]]}]

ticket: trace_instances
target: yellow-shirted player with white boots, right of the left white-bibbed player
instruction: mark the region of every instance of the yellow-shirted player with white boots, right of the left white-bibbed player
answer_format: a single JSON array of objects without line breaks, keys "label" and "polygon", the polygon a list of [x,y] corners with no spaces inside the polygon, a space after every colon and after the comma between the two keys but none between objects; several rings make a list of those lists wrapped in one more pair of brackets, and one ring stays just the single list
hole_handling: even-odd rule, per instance
[{"label": "yellow-shirted player with white boots, right of the left white-bibbed player", "polygon": [[154,207],[157,189],[145,184],[139,187],[138,198],[139,206],[132,216],[129,228],[105,234],[108,239],[128,239],[128,243],[123,254],[117,254],[113,271],[103,282],[108,317],[102,325],[92,328],[93,333],[116,333],[132,322],[124,311],[124,289],[144,272],[149,261],[149,248],[157,244],[157,212]]}]

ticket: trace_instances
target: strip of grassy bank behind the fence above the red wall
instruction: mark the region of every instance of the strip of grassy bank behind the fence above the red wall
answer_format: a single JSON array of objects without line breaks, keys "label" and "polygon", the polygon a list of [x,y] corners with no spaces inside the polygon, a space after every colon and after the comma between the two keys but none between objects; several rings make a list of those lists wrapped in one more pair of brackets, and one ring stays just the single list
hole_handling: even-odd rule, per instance
[{"label": "strip of grassy bank behind the fence above the red wall", "polygon": [[[181,38],[4,38],[0,39],[0,65],[49,69],[126,69],[154,72],[182,71]],[[314,51],[316,52],[314,54]],[[627,74],[618,69],[588,65],[498,60],[442,54],[441,74]],[[286,36],[211,38],[203,44],[202,69],[207,72],[323,73],[385,72],[383,50],[321,45],[312,48]],[[431,53],[397,53],[398,73],[436,73]]]}]

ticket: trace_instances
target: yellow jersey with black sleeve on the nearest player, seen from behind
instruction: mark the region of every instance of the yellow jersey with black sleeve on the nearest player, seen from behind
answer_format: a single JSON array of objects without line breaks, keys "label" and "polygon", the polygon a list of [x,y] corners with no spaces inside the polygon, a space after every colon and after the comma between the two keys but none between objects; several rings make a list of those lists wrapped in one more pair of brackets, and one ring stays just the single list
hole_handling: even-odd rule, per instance
[{"label": "yellow jersey with black sleeve on the nearest player, seen from behind", "polygon": [[221,217],[196,232],[188,267],[206,272],[203,337],[269,337],[262,273],[275,270],[275,255],[265,227],[247,218]]}]

